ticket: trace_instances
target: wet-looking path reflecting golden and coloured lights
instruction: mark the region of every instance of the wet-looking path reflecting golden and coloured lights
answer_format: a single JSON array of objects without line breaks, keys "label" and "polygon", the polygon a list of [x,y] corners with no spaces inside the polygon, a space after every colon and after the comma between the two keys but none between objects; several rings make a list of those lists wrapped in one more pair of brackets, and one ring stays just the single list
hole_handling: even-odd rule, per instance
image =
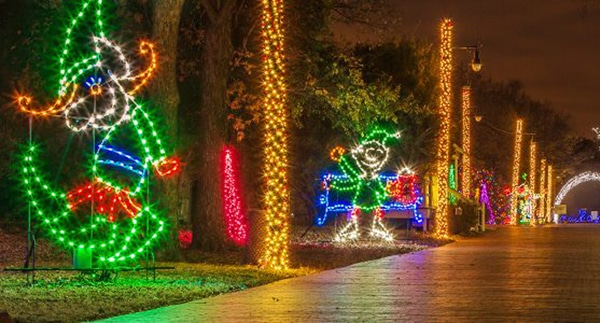
[{"label": "wet-looking path reflecting golden and coloured lights", "polygon": [[483,237],[107,322],[600,322],[600,226]]}]

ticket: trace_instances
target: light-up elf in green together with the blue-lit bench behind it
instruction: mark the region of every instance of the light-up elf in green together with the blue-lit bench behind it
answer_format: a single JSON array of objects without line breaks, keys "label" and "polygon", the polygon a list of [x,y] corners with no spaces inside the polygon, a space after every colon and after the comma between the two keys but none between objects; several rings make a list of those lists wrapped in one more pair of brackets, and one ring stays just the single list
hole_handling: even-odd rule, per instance
[{"label": "light-up elf in green together with the blue-lit bench behind it", "polygon": [[[317,225],[323,225],[330,213],[348,214],[350,220],[337,233],[336,241],[360,237],[358,217],[364,212],[373,215],[371,236],[392,240],[393,236],[382,222],[384,212],[414,211],[422,202],[415,174],[408,170],[394,175],[381,173],[389,158],[389,146],[399,137],[397,132],[374,127],[349,153],[330,154],[338,162],[341,174],[327,173],[322,177],[324,193],[318,197],[321,211]],[[342,151],[339,147],[334,150]]]}]

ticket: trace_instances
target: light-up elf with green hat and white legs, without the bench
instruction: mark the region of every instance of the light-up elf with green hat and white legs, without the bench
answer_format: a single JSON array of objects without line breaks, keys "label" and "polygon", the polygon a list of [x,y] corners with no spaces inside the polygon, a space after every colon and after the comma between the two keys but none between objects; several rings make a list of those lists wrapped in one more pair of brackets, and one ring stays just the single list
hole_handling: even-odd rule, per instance
[{"label": "light-up elf with green hat and white legs, without the bench", "polygon": [[[326,202],[328,203],[330,191],[351,196],[351,207],[347,208],[350,221],[336,235],[336,241],[356,240],[360,237],[358,218],[363,212],[372,212],[373,221],[370,230],[372,237],[386,241],[393,240],[392,234],[382,222],[382,206],[389,200],[389,194],[386,188],[388,179],[382,177],[380,172],[387,163],[390,144],[399,137],[400,134],[397,132],[376,127],[369,131],[349,154],[346,154],[341,147],[336,147],[330,154],[332,159],[338,162],[342,175],[326,176],[324,180]],[[323,217],[322,222],[324,220]]]}]

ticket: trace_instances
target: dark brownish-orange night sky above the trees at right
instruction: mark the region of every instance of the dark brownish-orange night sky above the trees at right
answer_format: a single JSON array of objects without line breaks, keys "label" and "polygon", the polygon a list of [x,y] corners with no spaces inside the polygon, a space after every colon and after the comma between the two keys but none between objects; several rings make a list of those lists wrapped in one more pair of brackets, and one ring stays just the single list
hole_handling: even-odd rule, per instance
[{"label": "dark brownish-orange night sky above the trees at right", "polygon": [[[388,1],[402,19],[398,37],[437,42],[440,19],[452,18],[456,46],[483,43],[486,75],[520,80],[532,98],[569,113],[578,134],[594,136],[590,129],[600,126],[600,1]],[[348,26],[336,30],[347,41],[374,39]]]}]

